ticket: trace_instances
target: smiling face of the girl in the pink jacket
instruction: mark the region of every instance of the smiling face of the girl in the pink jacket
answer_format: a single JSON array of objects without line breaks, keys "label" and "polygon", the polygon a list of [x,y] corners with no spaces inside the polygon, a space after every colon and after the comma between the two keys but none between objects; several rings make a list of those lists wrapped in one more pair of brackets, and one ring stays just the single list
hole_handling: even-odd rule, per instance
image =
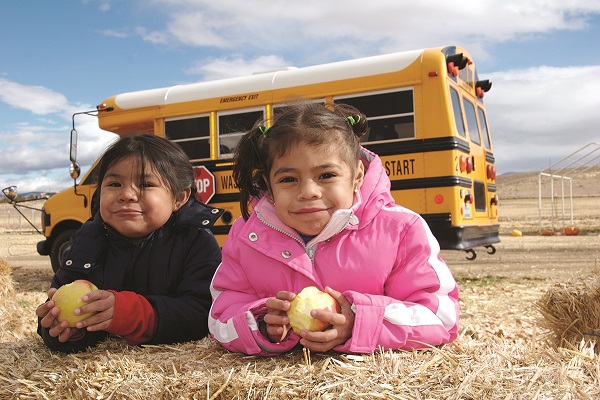
[{"label": "smiling face of the girl in the pink jacket", "polygon": [[295,230],[317,235],[336,210],[352,207],[364,175],[361,162],[354,169],[335,146],[294,146],[273,160],[269,174],[277,215]]}]

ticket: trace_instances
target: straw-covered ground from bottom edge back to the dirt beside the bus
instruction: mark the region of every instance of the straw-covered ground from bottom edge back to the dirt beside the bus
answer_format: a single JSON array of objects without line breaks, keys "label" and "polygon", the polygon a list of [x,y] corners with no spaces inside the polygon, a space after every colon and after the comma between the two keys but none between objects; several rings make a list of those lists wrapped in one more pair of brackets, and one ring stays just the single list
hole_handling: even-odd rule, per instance
[{"label": "straw-covered ground from bottom edge back to the dirt beside the bus", "polygon": [[[14,269],[0,260],[0,399],[600,398],[594,343],[556,347],[536,308],[557,284],[594,274],[600,238],[502,239],[495,255],[479,254],[475,262],[444,253],[461,287],[455,342],[362,356],[297,349],[256,358],[211,339],[135,347],[118,338],[87,353],[54,353],[34,333],[40,285],[27,283],[19,257],[12,257]],[[544,249],[531,251],[534,242]],[[567,251],[573,246],[580,258]],[[561,268],[569,259],[570,268]]]}]

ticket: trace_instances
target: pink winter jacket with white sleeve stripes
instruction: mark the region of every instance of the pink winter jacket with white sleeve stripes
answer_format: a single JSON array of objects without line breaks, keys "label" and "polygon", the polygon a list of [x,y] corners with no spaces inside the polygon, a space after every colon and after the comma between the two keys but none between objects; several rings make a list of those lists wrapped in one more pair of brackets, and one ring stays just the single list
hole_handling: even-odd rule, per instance
[{"label": "pink winter jacket with white sleeve stripes", "polygon": [[338,210],[307,244],[261,198],[237,219],[213,278],[211,335],[225,348],[272,356],[292,349],[293,332],[271,343],[258,329],[265,302],[306,286],[341,292],[355,313],[352,337],[334,350],[371,353],[453,341],[458,287],[439,244],[416,213],[394,204],[381,160],[364,150],[365,178],[350,210]]}]

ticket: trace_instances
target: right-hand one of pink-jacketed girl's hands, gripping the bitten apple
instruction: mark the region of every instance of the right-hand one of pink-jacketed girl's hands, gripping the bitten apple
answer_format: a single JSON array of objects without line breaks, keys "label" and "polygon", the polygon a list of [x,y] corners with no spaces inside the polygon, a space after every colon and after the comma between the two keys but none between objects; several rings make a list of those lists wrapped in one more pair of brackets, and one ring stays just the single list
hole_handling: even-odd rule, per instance
[{"label": "right-hand one of pink-jacketed girl's hands, gripping the bitten apple", "polygon": [[354,312],[350,302],[337,290],[325,287],[325,292],[329,293],[340,305],[341,313],[325,310],[312,310],[310,315],[318,320],[328,322],[331,328],[323,332],[310,332],[302,330],[300,332],[300,344],[307,349],[315,352],[324,352],[333,349],[342,343],[345,343],[352,336],[354,328]]}]

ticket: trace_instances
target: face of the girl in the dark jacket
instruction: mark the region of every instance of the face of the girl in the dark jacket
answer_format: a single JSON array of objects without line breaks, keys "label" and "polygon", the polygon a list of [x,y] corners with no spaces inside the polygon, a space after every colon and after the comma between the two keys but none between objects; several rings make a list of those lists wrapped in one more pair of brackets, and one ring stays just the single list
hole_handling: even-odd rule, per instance
[{"label": "face of the girl in the dark jacket", "polygon": [[100,192],[102,219],[129,238],[160,228],[182,204],[152,168],[146,168],[146,186],[140,191],[140,173],[139,163],[127,157],[106,171]]}]

